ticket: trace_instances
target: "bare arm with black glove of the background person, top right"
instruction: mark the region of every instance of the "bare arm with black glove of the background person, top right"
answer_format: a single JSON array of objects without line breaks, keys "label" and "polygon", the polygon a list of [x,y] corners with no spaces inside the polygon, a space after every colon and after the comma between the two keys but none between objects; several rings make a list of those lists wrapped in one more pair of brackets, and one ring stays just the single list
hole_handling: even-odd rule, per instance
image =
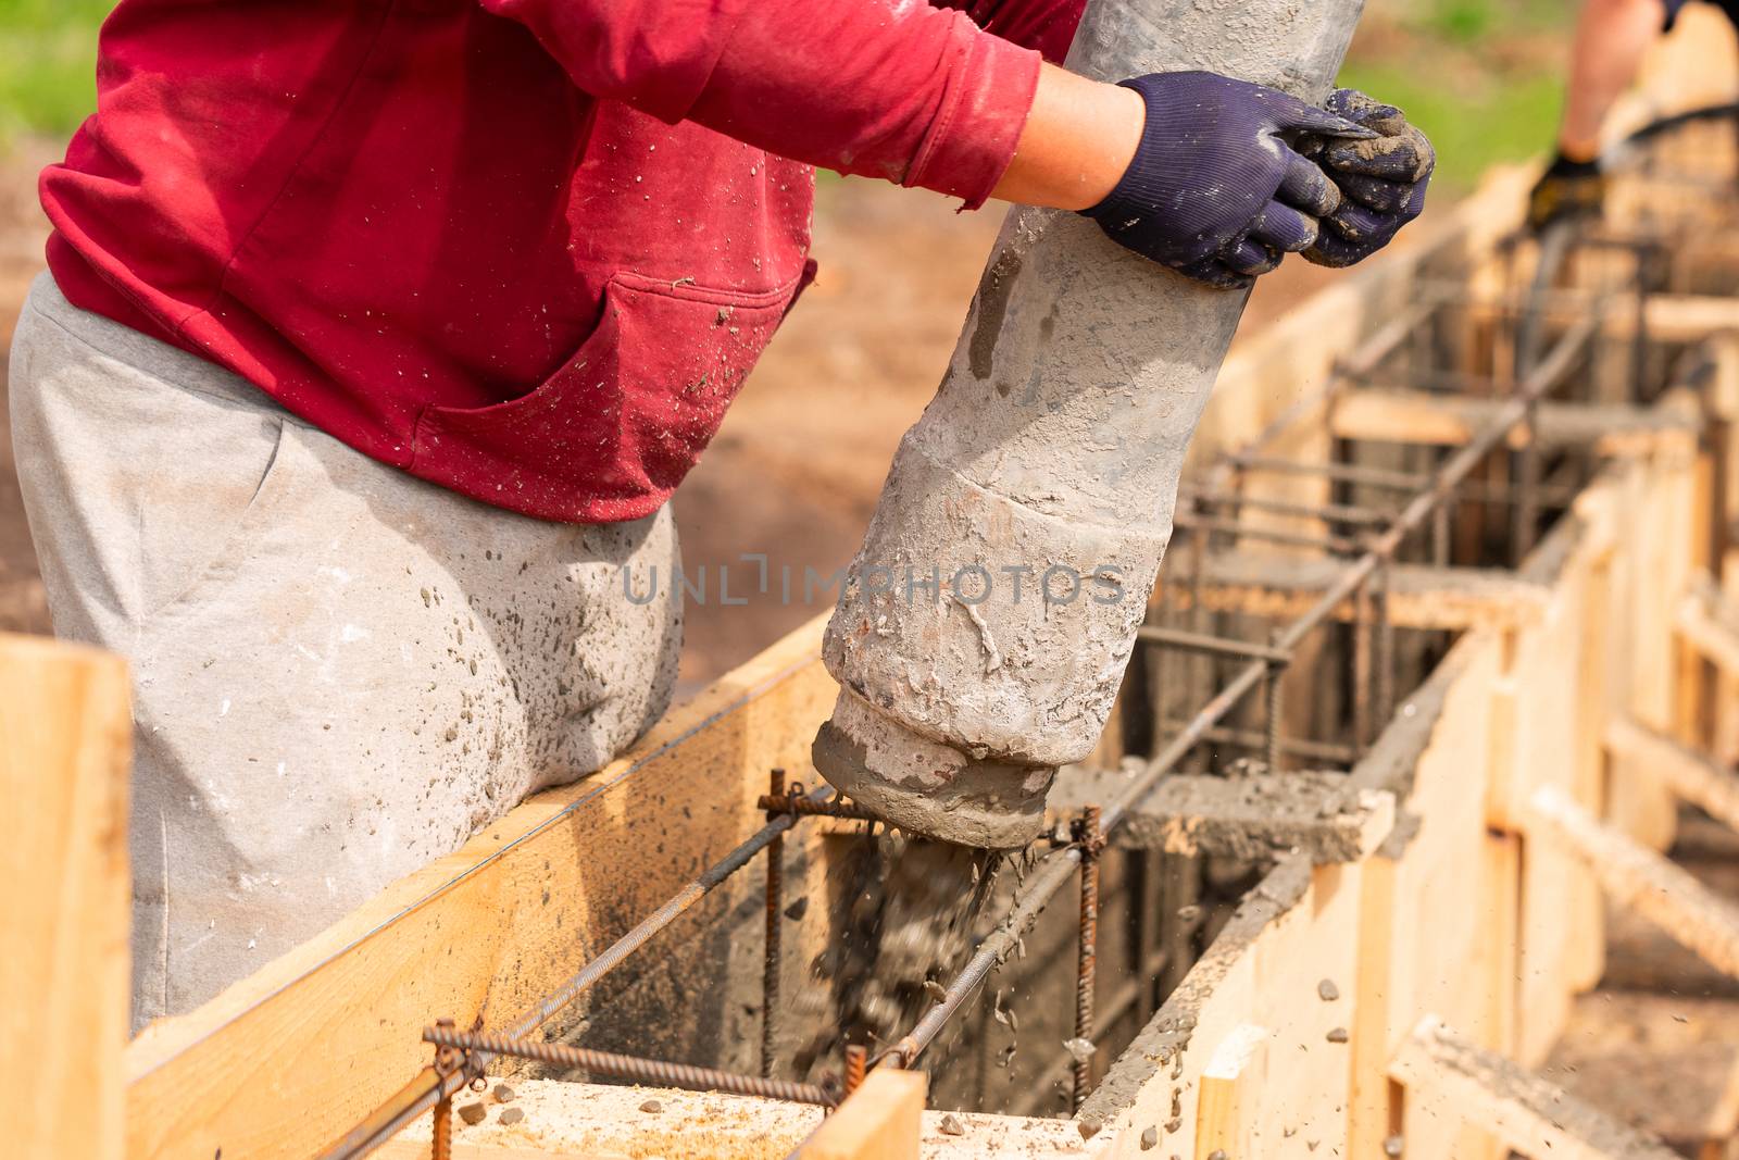
[{"label": "bare arm with black glove of the background person, top right", "polygon": [[[1607,183],[1600,172],[1600,127],[1636,78],[1643,52],[1671,31],[1689,0],[1584,0],[1570,49],[1558,146],[1529,198],[1529,224],[1544,230],[1569,217],[1598,217]],[[1720,0],[1739,23],[1739,0]]]}]

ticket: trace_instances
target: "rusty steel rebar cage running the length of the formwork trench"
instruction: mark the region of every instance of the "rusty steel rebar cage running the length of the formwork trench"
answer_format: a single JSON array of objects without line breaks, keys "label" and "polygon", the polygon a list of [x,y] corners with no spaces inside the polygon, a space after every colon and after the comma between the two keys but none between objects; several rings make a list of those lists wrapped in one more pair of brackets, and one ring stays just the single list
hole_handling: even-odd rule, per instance
[{"label": "rusty steel rebar cage running the length of the formwork trench", "polygon": [[[1602,238],[1602,245],[1626,245],[1622,240]],[[1631,242],[1638,254],[1643,247],[1657,242]],[[1567,250],[1569,247],[1565,247]],[[1562,252],[1553,264],[1562,261]],[[1544,259],[1542,259],[1544,264]],[[1268,643],[1250,643],[1214,637],[1205,631],[1181,631],[1163,626],[1144,626],[1139,630],[1143,645],[1158,654],[1181,650],[1196,657],[1223,657],[1243,661],[1236,673],[1226,680],[1219,690],[1186,722],[1177,723],[1176,732],[1155,753],[1143,770],[1116,795],[1115,800],[1092,805],[1075,819],[1069,842],[1043,840],[1054,849],[1043,856],[1028,875],[1026,890],[1014,901],[1003,920],[979,943],[967,963],[953,981],[943,990],[941,998],[918,1019],[911,1030],[878,1056],[870,1057],[863,1045],[849,1045],[843,1056],[845,1090],[850,1092],[861,1083],[868,1068],[913,1066],[922,1052],[936,1040],[944,1026],[958,1014],[967,1000],[977,991],[984,979],[1014,955],[1021,937],[1031,929],[1052,897],[1080,871],[1080,944],[1076,955],[1076,1017],[1075,1042],[1069,1052],[1075,1056],[1071,1106],[1078,1110],[1085,1101],[1094,1068],[1092,1037],[1096,1031],[1096,957],[1097,957],[1097,913],[1099,913],[1099,852],[1111,833],[1130,816],[1134,807],[1146,797],[1160,777],[1176,770],[1184,758],[1202,743],[1210,739],[1229,739],[1238,744],[1259,750],[1271,769],[1278,769],[1287,753],[1329,758],[1356,757],[1374,741],[1376,729],[1389,718],[1395,708],[1395,626],[1389,617],[1389,569],[1396,553],[1407,539],[1417,532],[1428,536],[1428,555],[1440,565],[1450,560],[1449,513],[1456,503],[1464,499],[1496,499],[1515,508],[1515,534],[1518,544],[1530,543],[1537,534],[1541,506],[1562,503],[1572,489],[1551,489],[1541,475],[1537,457],[1532,466],[1523,457],[1520,482],[1508,487],[1494,487],[1469,478],[1473,471],[1501,449],[1516,428],[1532,428],[1537,419],[1539,402],[1576,369],[1598,337],[1603,322],[1612,317],[1610,297],[1591,297],[1588,294],[1570,294],[1553,290],[1546,285],[1549,275],[1536,280],[1530,299],[1537,320],[1537,310],[1544,303],[1549,308],[1574,306],[1579,318],[1565,329],[1549,348],[1544,343],[1544,330],[1537,337],[1525,337],[1515,346],[1515,374],[1508,384],[1499,377],[1487,376],[1482,381],[1494,390],[1508,388],[1508,397],[1499,409],[1480,426],[1471,438],[1443,457],[1433,471],[1386,471],[1344,463],[1304,463],[1264,454],[1276,438],[1294,423],[1313,410],[1327,405],[1349,384],[1369,381],[1379,369],[1428,323],[1431,323],[1443,306],[1478,304],[1494,317],[1515,322],[1527,310],[1523,303],[1516,311],[1509,311],[1508,303],[1494,304],[1490,297],[1473,299],[1462,287],[1438,283],[1419,283],[1424,289],[1423,301],[1405,308],[1396,318],[1376,330],[1346,362],[1334,367],[1327,383],[1315,393],[1292,403],[1282,416],[1273,419],[1250,443],[1238,450],[1221,454],[1203,477],[1202,487],[1188,489],[1183,496],[1184,510],[1177,513],[1177,527],[1188,536],[1191,553],[1188,557],[1188,586],[1193,590],[1191,605],[1200,610],[1202,569],[1209,543],[1219,539],[1257,539],[1285,546],[1316,548],[1327,553],[1346,557],[1337,577],[1327,586],[1320,598],[1303,616],[1285,628],[1271,631]],[[1647,270],[1638,257],[1636,283],[1629,287],[1638,299],[1645,294]],[[1636,336],[1645,336],[1643,311],[1638,308],[1631,322]],[[1638,337],[1640,351],[1645,337]],[[1642,355],[1636,355],[1640,367]],[[1638,372],[1640,374],[1640,372]],[[1471,376],[1480,377],[1480,376]],[[1537,456],[1539,442],[1530,438],[1525,449]],[[1527,456],[1527,450],[1523,450]],[[1398,511],[1384,511],[1349,503],[1299,504],[1289,501],[1249,497],[1233,490],[1247,475],[1257,473],[1296,473],[1313,475],[1346,487],[1374,487],[1405,496],[1407,503]],[[1205,515],[1209,510],[1229,510],[1233,513],[1266,511],[1283,517],[1316,520],[1329,527],[1343,527],[1348,536],[1332,534],[1297,534],[1278,529],[1252,527],[1238,518],[1217,518]],[[1306,637],[1330,623],[1336,610],[1346,602],[1353,602],[1353,736],[1351,746],[1306,739],[1283,739],[1283,677],[1296,650]],[[1195,621],[1200,624],[1200,621]],[[1203,661],[1205,663],[1205,661]],[[1263,729],[1245,732],[1233,729],[1226,718],[1243,704],[1252,692],[1263,690]],[[1165,727],[1162,715],[1156,722]],[[699,1087],[727,1090],[737,1094],[767,1096],[796,1103],[812,1103],[831,1108],[836,1094],[824,1087],[796,1083],[772,1078],[776,1070],[777,1042],[777,1005],[779,988],[779,915],[783,911],[783,837],[803,817],[836,817],[849,821],[875,823],[875,816],[849,802],[833,797],[833,791],[821,788],[803,793],[802,786],[786,786],[783,770],[774,770],[770,790],[756,800],[756,807],[767,812],[767,824],[751,835],[744,843],[708,868],[703,875],[678,890],[664,906],[640,922],[635,929],[617,939],[605,951],[590,960],[577,974],[550,993],[536,1009],[520,1017],[504,1033],[482,1035],[478,1031],[457,1033],[450,1023],[443,1021],[424,1031],[424,1040],[436,1045],[436,1061],[416,1080],[405,1085],[391,1101],[383,1104],[369,1120],[360,1123],[327,1155],[351,1157],[370,1151],[379,1143],[391,1137],[400,1127],[426,1110],[435,1110],[435,1155],[440,1158],[450,1146],[450,1110],[452,1096],[480,1077],[483,1070],[501,1056],[541,1059],[560,1066],[583,1068],[598,1075],[668,1083],[673,1087]],[[680,915],[744,868],[753,857],[769,852],[767,894],[765,894],[765,965],[763,965],[763,1028],[760,1075],[737,1075],[711,1068],[640,1059],[635,1056],[617,1056],[591,1049],[567,1047],[562,1043],[532,1042],[525,1037],[548,1023],[556,1012],[574,1002],[586,988],[626,962],[635,951],[645,946],[661,930],[670,927]],[[1144,963],[1155,955],[1165,958],[1165,951],[1144,955]],[[1136,990],[1127,990],[1106,1007],[1106,1019],[1122,1016],[1130,1007],[1143,1003],[1143,979],[1136,981]],[[1066,1057],[1064,1057],[1066,1059]]]}]

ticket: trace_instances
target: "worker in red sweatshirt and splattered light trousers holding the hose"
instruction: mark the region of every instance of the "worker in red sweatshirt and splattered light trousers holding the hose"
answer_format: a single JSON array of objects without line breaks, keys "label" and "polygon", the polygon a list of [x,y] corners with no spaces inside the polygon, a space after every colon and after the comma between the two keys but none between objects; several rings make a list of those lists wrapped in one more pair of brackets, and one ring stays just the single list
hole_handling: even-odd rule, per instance
[{"label": "worker in red sweatshirt and splattered light trousers holding the hose", "polygon": [[664,711],[680,605],[624,590],[678,588],[664,501],[812,277],[816,165],[1223,287],[1419,212],[1395,110],[1085,80],[1042,63],[1080,7],[120,3],[10,393],[56,631],[132,663],[136,1021]]}]

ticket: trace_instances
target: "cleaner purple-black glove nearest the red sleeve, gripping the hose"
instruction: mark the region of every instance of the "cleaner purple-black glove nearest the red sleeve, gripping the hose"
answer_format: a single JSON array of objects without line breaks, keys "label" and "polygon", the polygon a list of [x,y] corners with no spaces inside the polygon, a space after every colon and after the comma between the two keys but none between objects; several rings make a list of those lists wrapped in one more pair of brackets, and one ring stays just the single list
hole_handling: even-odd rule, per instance
[{"label": "cleaner purple-black glove nearest the red sleeve, gripping the hose", "polygon": [[1111,240],[1209,285],[1247,289],[1287,252],[1316,242],[1316,217],[1341,200],[1289,146],[1289,130],[1376,139],[1349,120],[1275,89],[1216,73],[1122,82],[1148,120],[1123,179],[1082,214]]}]

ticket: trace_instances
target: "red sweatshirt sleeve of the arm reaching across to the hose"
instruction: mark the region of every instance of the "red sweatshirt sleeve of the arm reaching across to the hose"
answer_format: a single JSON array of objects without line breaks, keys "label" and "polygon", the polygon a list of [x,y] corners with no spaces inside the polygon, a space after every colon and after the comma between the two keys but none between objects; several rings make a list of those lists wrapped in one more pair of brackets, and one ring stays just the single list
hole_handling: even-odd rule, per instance
[{"label": "red sweatshirt sleeve of the arm reaching across to the hose", "polygon": [[1040,54],[925,0],[480,0],[574,83],[666,122],[977,207],[1014,158]]}]

